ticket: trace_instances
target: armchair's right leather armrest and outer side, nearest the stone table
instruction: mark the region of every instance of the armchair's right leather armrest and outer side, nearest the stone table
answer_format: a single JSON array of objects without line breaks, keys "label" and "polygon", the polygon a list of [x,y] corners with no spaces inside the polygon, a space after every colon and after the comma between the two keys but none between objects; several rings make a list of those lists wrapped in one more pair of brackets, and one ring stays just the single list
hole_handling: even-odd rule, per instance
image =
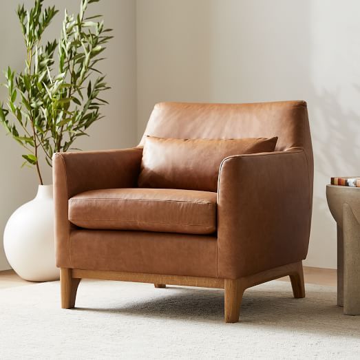
[{"label": "armchair's right leather armrest and outer side, nearest the stone table", "polygon": [[305,259],[313,200],[308,164],[302,149],[222,161],[219,277],[236,279]]}]

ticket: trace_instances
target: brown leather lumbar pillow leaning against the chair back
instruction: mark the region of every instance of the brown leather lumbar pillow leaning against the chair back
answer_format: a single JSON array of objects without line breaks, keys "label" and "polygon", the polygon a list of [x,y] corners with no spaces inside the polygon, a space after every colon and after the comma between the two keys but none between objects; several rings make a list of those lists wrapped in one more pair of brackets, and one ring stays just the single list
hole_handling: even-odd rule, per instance
[{"label": "brown leather lumbar pillow leaning against the chair back", "polygon": [[142,153],[139,187],[218,190],[224,158],[274,151],[275,138],[173,139],[147,136]]}]

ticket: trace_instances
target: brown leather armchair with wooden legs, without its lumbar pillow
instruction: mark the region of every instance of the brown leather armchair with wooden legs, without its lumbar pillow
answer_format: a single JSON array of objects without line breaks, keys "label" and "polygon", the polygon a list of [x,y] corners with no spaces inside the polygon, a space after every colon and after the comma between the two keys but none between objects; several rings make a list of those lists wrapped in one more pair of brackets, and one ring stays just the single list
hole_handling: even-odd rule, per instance
[{"label": "brown leather armchair with wooden legs, without its lumbar pillow", "polygon": [[[246,288],[272,279],[289,275],[304,297],[313,200],[306,103],[160,103],[145,136],[278,140],[274,152],[225,158],[217,193],[139,188],[145,138],[132,149],[54,154],[62,307],[74,308],[82,278],[224,288],[226,322],[238,321]],[[212,233],[187,226],[186,214]]]}]

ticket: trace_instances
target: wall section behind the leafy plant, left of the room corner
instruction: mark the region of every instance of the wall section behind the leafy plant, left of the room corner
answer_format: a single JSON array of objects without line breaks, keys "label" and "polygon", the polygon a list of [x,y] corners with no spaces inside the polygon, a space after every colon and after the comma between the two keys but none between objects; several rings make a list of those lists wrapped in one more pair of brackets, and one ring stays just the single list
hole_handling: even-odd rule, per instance
[{"label": "wall section behind the leafy plant, left of the room corner", "polygon": [[[21,71],[24,67],[25,50],[21,29],[18,25],[15,10],[17,3],[25,3],[30,8],[33,0],[1,1],[0,36],[1,56],[0,69],[11,65]],[[48,29],[50,39],[59,38],[64,9],[77,12],[80,0],[47,0],[46,6],[55,5],[61,10]],[[94,123],[89,129],[89,138],[81,138],[76,147],[81,149],[111,149],[130,147],[136,144],[136,3],[134,0],[102,0],[91,4],[89,13],[103,14],[105,25],[114,29],[111,43],[105,52],[107,60],[101,64],[107,74],[107,81],[112,89],[105,98],[110,105],[104,107],[105,118]],[[1,74],[1,80],[3,77]],[[0,90],[2,100],[6,92]],[[20,169],[22,149],[5,130],[0,129],[0,270],[9,268],[2,248],[2,233],[10,214],[24,202],[31,200],[37,189],[37,178],[33,170]],[[43,166],[45,168],[45,165]],[[44,169],[45,180],[51,183],[49,169]]]}]

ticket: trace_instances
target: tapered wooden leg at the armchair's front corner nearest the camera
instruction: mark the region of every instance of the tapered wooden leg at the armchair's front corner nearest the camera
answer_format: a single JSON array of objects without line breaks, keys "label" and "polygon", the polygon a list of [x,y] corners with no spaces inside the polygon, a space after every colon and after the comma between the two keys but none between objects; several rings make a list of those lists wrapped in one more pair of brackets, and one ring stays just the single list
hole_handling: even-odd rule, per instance
[{"label": "tapered wooden leg at the armchair's front corner nearest the camera", "polygon": [[240,279],[225,279],[224,288],[225,322],[237,323],[245,289]]}]

